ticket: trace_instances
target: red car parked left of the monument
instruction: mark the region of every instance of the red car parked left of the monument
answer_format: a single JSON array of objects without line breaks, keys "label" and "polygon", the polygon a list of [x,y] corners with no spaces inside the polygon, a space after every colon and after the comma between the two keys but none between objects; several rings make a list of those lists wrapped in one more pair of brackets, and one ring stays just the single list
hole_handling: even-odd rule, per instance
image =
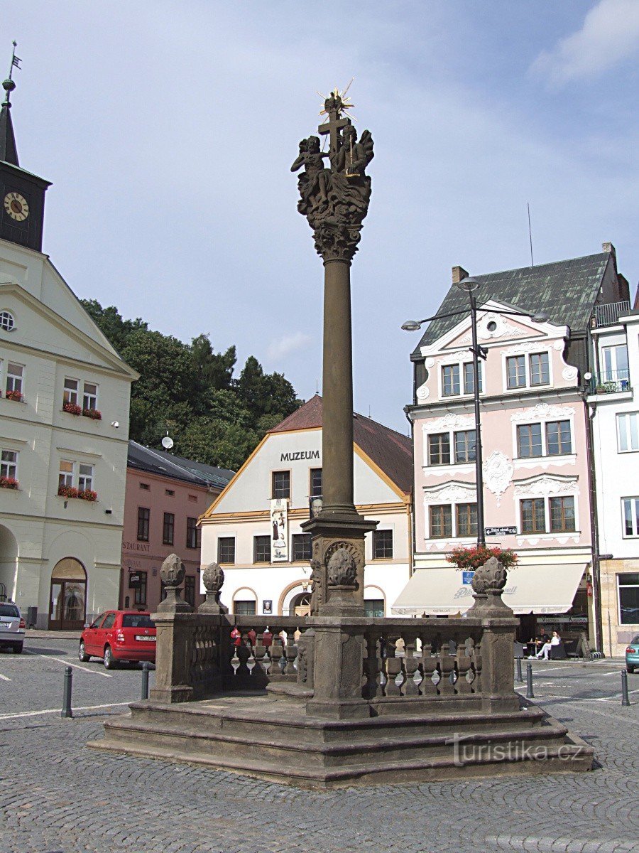
[{"label": "red car parked left of the monument", "polygon": [[78,658],[101,658],[107,670],[123,660],[155,663],[157,632],[149,612],[108,610],[101,613],[80,637]]}]

